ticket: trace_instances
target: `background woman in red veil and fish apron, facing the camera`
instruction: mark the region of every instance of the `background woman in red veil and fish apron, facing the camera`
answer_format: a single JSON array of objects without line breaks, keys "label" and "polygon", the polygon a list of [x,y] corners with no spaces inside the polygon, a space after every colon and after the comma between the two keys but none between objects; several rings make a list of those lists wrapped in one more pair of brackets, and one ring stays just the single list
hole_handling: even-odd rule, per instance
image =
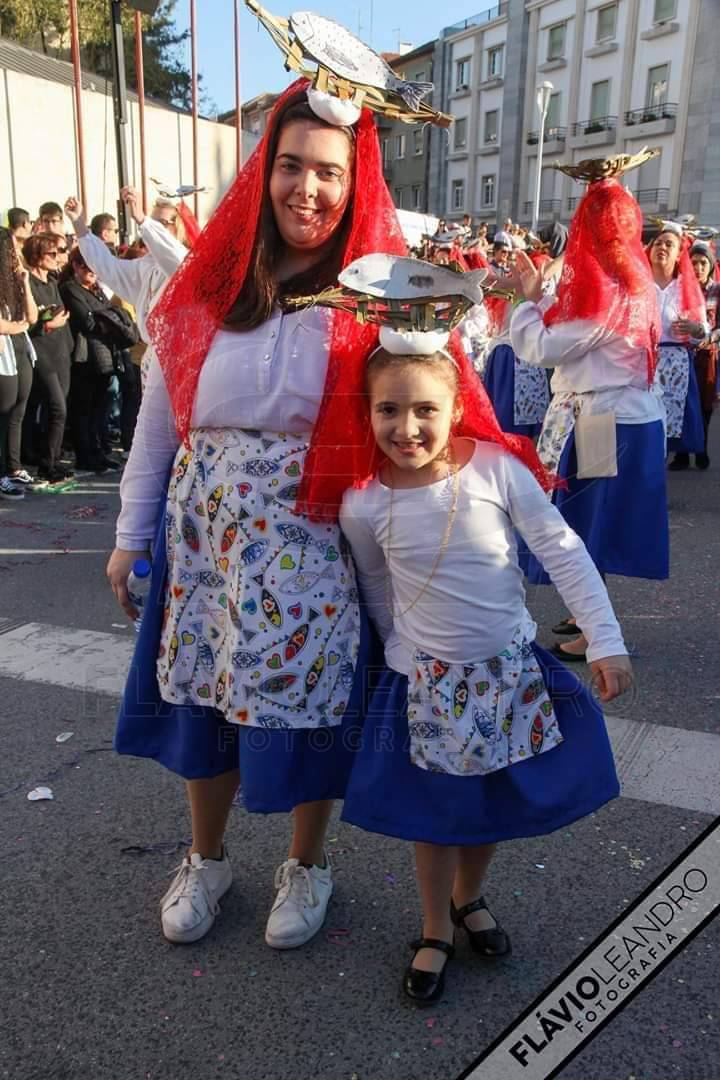
[{"label": "background woman in red veil and fish apron, facing the camera", "polygon": [[690,243],[681,225],[663,221],[648,257],[655,280],[661,341],[655,379],[663,394],[667,448],[681,455],[668,469],[687,469],[687,455],[705,447],[703,411],[693,347],[708,333],[705,301],[690,261]]}]

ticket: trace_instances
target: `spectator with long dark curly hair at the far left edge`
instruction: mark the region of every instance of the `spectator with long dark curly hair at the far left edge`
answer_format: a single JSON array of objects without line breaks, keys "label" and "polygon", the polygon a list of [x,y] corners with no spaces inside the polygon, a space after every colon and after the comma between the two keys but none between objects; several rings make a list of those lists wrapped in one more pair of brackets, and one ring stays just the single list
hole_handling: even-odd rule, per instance
[{"label": "spectator with long dark curly hair at the far left edge", "polygon": [[21,464],[23,417],[32,386],[27,336],[38,309],[12,233],[0,230],[0,498],[22,499],[32,476]]}]

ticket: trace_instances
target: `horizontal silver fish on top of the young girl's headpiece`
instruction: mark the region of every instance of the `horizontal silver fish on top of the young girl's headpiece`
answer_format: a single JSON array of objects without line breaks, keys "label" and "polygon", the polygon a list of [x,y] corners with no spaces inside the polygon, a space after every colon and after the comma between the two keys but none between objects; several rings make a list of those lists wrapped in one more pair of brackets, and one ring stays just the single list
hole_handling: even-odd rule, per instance
[{"label": "horizontal silver fish on top of the young girl's headpiece", "polygon": [[483,302],[481,284],[487,270],[461,273],[423,259],[397,255],[363,255],[339,274],[345,288],[385,300],[420,300],[444,296],[464,296],[472,303]]}]

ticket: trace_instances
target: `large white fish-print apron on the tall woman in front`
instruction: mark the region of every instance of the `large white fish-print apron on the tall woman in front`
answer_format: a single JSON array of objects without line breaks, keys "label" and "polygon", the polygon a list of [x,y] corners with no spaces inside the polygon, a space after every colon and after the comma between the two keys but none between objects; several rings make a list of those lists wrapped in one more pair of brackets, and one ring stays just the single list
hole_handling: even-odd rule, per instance
[{"label": "large white fish-print apron on the tall woman in front", "polygon": [[359,648],[339,527],[294,507],[307,436],[199,428],[167,498],[163,700],[268,729],[341,723]]}]

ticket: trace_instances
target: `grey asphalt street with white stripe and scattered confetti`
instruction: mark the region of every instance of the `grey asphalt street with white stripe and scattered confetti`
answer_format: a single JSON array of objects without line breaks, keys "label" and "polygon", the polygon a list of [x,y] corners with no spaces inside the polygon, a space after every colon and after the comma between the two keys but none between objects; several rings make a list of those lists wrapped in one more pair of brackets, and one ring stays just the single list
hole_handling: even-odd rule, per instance
[{"label": "grey asphalt street with white stripe and scattered confetti", "polygon": [[[453,1080],[720,813],[714,427],[710,471],[669,475],[670,580],[611,581],[637,653],[635,694],[609,713],[623,796],[499,852],[486,894],[514,953],[487,967],[463,942],[426,1011],[399,994],[420,924],[411,850],[337,818],[336,892],[309,946],[263,943],[289,823],[242,809],[214,930],[162,937],[189,825],[177,778],[111,751],[134,637],[104,579],[117,477],[0,503],[0,1077]],[[561,604],[552,589],[529,603],[548,644]],[[28,801],[39,784],[53,801]],[[716,920],[562,1076],[720,1080],[719,960]]]}]

